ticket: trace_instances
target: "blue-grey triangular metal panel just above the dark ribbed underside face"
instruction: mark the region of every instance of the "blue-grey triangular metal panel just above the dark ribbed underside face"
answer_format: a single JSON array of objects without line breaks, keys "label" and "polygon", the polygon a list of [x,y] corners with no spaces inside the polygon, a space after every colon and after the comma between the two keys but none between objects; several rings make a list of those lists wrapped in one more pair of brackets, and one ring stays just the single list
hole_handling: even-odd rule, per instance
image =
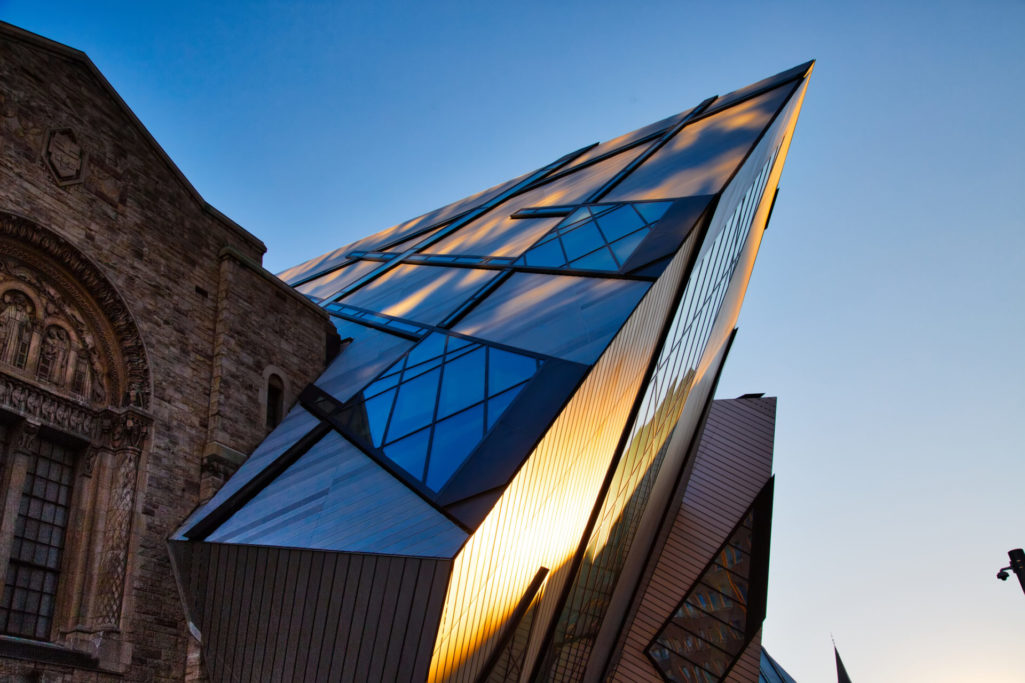
[{"label": "blue-grey triangular metal panel just above the dark ribbed underside face", "polygon": [[336,432],[207,540],[450,557],[466,532]]}]

